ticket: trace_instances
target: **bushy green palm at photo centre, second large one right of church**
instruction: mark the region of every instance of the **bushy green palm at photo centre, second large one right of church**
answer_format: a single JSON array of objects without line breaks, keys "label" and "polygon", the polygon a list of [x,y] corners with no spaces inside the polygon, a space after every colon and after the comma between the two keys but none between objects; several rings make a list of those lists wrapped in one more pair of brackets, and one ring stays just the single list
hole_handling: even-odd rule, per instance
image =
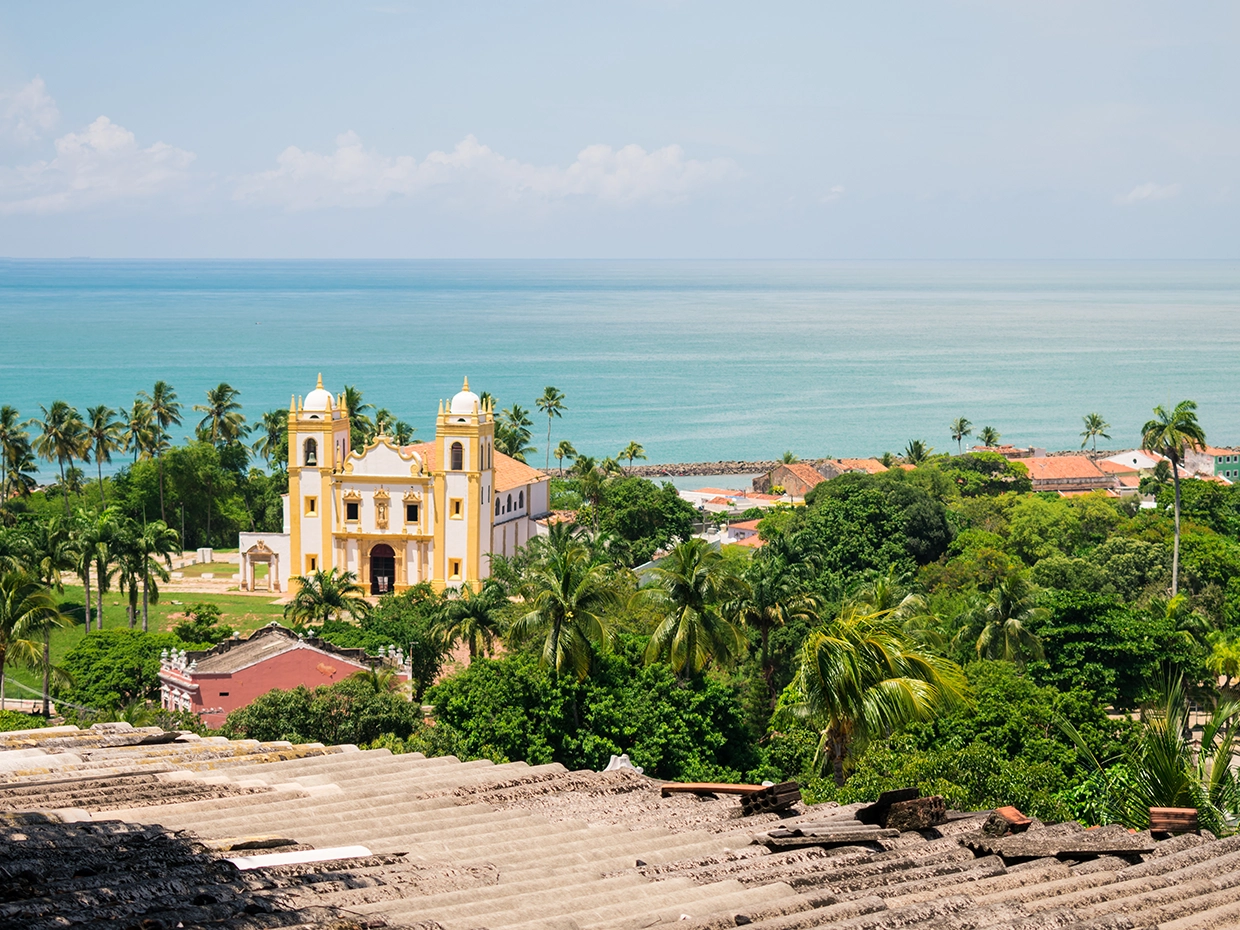
[{"label": "bushy green palm at photo centre, second large one right of church", "polygon": [[744,596],[745,584],[706,539],[686,539],[653,569],[650,591],[662,620],[650,636],[646,661],[667,658],[677,675],[698,675],[711,662],[727,665],[745,637],[724,616],[724,604]]}]

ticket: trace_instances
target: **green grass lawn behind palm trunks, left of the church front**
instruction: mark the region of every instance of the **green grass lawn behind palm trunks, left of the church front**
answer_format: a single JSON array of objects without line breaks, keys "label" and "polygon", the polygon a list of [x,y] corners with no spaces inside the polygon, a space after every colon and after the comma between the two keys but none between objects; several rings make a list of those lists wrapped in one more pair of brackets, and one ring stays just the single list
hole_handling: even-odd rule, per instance
[{"label": "green grass lawn behind palm trunks, left of the church front", "polygon": [[[175,600],[174,600],[175,599]],[[57,630],[52,634],[52,665],[60,665],[64,655],[73,649],[82,637],[87,635],[86,627],[82,624],[83,608],[82,603],[84,600],[82,594],[82,588],[66,585],[64,596],[61,609],[73,616],[77,620],[74,626]],[[104,616],[103,627],[105,630],[112,629],[126,629],[129,626],[129,620],[125,616],[125,599],[119,596],[115,591],[107,595],[103,603]],[[275,604],[269,598],[253,596],[247,594],[198,594],[198,593],[185,593],[176,591],[172,594],[165,593],[160,598],[159,604],[150,605],[150,629],[151,630],[171,630],[184,619],[182,613],[188,604],[207,603],[215,604],[219,608],[223,619],[221,622],[232,626],[242,632],[249,630],[257,630],[259,626],[265,626],[272,622],[272,620],[280,620],[284,616],[284,605]],[[138,605],[138,625],[141,627],[141,603]],[[175,616],[174,616],[175,615]],[[14,666],[5,666],[4,670],[6,678],[12,678],[20,681],[31,688],[42,688],[42,675],[29,668],[17,668]],[[15,688],[12,684],[6,684],[7,697],[33,697],[33,694]]]}]

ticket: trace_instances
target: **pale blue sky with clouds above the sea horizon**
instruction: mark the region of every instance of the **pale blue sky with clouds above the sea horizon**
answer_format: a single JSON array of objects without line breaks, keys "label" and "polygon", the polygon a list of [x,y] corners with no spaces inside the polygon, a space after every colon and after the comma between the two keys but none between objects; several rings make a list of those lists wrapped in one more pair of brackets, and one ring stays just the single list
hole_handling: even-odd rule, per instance
[{"label": "pale blue sky with clouds above the sea horizon", "polygon": [[0,255],[1240,258],[1240,5],[0,7]]}]

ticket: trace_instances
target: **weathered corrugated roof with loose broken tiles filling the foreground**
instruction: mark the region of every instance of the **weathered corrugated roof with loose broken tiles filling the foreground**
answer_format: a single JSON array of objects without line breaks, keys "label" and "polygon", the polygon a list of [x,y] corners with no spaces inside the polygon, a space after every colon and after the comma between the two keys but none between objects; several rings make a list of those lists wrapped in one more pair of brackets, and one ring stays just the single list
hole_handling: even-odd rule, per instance
[{"label": "weathered corrugated roof with loose broken tiles filling the foreground", "polygon": [[901,832],[862,807],[742,817],[734,797],[661,797],[632,770],[128,724],[7,733],[0,925],[1223,930],[1240,919],[1240,836],[1033,821],[992,837],[990,811]]}]

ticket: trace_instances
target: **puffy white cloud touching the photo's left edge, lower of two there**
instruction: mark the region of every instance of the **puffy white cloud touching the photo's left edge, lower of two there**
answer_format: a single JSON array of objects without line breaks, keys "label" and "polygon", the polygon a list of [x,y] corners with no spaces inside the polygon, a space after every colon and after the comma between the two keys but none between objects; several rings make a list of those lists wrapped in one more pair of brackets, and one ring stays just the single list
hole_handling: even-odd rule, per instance
[{"label": "puffy white cloud touching the photo's left edge, lower of two there", "polygon": [[193,153],[165,143],[139,148],[107,117],[56,140],[56,157],[0,171],[0,213],[58,213],[140,200],[188,177]]}]

